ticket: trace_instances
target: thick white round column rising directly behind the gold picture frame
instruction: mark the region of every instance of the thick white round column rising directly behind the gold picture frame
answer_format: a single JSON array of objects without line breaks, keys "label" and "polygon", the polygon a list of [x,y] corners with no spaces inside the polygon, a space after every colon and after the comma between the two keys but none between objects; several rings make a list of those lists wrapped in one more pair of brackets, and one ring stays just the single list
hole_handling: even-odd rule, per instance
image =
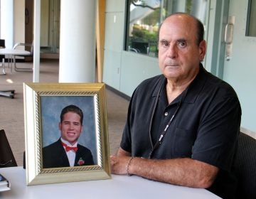
[{"label": "thick white round column rising directly behind the gold picture frame", "polygon": [[95,82],[96,1],[61,0],[59,82]]}]

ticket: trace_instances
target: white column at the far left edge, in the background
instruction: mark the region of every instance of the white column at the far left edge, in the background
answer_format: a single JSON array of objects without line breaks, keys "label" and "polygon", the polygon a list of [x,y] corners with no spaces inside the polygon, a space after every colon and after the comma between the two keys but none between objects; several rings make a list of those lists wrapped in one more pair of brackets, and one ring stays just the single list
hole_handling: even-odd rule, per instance
[{"label": "white column at the far left edge, in the background", "polygon": [[14,47],[14,0],[1,0],[1,39],[6,48]]}]

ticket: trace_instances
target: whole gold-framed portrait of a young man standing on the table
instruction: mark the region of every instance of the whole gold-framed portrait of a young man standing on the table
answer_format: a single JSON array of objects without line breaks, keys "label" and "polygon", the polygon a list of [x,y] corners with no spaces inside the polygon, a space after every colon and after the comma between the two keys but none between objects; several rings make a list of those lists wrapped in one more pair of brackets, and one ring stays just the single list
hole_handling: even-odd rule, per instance
[{"label": "whole gold-framed portrait of a young man standing on the table", "polygon": [[111,178],[104,83],[23,83],[26,183]]}]

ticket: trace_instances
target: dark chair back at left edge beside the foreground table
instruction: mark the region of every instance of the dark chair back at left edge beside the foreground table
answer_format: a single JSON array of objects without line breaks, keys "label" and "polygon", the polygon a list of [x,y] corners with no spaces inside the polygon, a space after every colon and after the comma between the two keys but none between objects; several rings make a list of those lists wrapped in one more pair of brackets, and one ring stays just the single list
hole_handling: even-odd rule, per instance
[{"label": "dark chair back at left edge beside the foreground table", "polygon": [[4,129],[0,130],[0,168],[17,166]]}]

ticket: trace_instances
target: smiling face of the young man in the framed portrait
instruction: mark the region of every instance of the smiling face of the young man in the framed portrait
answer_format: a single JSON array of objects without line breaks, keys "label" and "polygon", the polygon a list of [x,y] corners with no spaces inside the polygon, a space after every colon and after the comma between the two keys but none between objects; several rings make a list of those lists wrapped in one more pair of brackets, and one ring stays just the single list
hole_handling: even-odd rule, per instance
[{"label": "smiling face of the young man in the framed portrait", "polygon": [[75,112],[67,112],[63,116],[63,122],[59,123],[61,137],[70,144],[75,144],[82,132],[82,124],[80,123],[80,115]]}]

